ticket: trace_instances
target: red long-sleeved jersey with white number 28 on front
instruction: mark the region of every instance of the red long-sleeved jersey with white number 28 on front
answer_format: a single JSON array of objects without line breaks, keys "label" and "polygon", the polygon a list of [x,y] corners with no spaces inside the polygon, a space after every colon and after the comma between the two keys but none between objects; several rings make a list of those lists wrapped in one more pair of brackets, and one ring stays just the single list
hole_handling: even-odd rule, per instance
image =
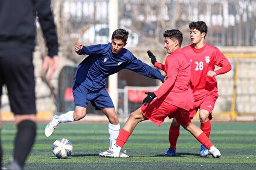
[{"label": "red long-sleeved jersey with white number 28 on front", "polygon": [[189,45],[182,48],[182,51],[191,61],[191,88],[195,101],[201,100],[206,95],[218,97],[216,78],[207,76],[207,72],[214,71],[215,65],[219,67],[230,65],[227,58],[218,48],[206,43],[203,48],[196,49],[193,45]]}]

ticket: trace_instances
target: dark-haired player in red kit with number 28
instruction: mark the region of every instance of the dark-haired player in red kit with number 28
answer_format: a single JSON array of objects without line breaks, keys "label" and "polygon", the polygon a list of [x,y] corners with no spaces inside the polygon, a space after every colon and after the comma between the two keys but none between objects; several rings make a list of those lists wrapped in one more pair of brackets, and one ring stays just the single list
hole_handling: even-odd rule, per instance
[{"label": "dark-haired player in red kit with number 28", "polygon": [[[199,109],[200,128],[206,136],[210,136],[210,120],[215,101],[218,98],[218,88],[215,76],[222,75],[231,70],[230,62],[216,47],[205,42],[207,26],[205,22],[198,21],[189,24],[192,44],[182,48],[191,61],[191,88],[195,104],[190,111],[191,119]],[[220,69],[215,70],[215,65]],[[176,144],[179,136],[177,119],[173,119],[169,129],[170,148],[164,156],[176,155]],[[200,156],[206,157],[209,150],[201,145]]]}]

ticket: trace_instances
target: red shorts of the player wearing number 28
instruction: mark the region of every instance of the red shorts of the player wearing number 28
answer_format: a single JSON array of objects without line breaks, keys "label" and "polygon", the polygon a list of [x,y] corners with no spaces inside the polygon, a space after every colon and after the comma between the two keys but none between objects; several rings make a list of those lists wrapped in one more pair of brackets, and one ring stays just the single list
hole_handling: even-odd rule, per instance
[{"label": "red shorts of the player wearing number 28", "polygon": [[193,119],[193,116],[196,115],[196,112],[198,109],[204,109],[210,113],[209,119],[212,120],[212,111],[215,107],[215,102],[217,100],[217,97],[214,95],[207,95],[205,98],[195,101],[193,105],[193,109],[189,111],[189,117]]}]

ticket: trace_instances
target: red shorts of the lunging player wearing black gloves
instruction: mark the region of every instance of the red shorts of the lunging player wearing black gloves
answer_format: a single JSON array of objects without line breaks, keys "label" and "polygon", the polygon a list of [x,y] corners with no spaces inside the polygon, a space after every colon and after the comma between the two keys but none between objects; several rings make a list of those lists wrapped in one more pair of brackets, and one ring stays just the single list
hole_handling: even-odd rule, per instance
[{"label": "red shorts of the lunging player wearing black gloves", "polygon": [[147,105],[142,105],[141,112],[157,126],[162,125],[167,116],[169,118],[176,118],[182,126],[188,126],[191,123],[188,111],[162,100],[153,100],[148,107]]}]

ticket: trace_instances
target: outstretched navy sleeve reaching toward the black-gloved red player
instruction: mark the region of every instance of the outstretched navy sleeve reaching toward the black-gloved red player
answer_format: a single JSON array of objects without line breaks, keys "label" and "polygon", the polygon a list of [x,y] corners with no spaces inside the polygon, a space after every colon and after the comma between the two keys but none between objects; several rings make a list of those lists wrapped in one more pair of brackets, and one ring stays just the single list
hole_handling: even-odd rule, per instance
[{"label": "outstretched navy sleeve reaching toward the black-gloved red player", "polygon": [[152,79],[159,79],[161,82],[164,82],[164,75],[162,75],[158,70],[151,68],[151,66],[147,65],[146,63],[140,61],[135,56],[131,56],[130,61],[126,65],[126,69],[133,70],[140,75],[144,75],[150,77]]}]

